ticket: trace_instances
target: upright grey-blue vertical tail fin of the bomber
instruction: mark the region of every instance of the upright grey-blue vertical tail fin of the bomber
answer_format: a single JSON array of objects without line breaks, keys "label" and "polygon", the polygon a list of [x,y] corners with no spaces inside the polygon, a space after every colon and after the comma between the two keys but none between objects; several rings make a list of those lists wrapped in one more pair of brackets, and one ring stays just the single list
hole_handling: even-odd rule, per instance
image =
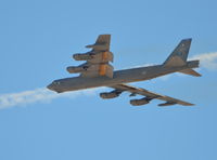
[{"label": "upright grey-blue vertical tail fin of the bomber", "polygon": [[164,66],[183,66],[187,63],[187,57],[189,54],[191,45],[191,39],[183,39],[164,62]]}]

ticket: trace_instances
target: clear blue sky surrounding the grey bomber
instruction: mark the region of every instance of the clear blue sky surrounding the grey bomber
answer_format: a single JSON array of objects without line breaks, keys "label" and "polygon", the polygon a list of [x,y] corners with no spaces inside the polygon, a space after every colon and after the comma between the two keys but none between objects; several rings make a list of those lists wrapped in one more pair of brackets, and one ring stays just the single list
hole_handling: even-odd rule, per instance
[{"label": "clear blue sky surrounding the grey bomber", "polygon": [[[215,0],[0,1],[0,99],[30,95],[0,107],[0,159],[217,159],[216,6]],[[71,77],[65,68],[79,64],[73,53],[87,52],[100,34],[112,34],[117,69],[161,64],[181,39],[193,38],[189,56],[205,56],[203,77],[135,85],[196,105],[132,107],[127,93],[98,96],[110,89],[48,96],[43,88]],[[42,102],[31,99],[38,93]]]}]

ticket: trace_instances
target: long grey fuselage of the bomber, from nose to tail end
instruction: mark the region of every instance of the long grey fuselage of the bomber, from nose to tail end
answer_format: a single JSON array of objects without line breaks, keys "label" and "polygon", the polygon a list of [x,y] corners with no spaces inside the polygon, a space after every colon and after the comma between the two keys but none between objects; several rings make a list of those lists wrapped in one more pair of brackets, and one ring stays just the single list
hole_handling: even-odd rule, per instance
[{"label": "long grey fuselage of the bomber, from nose to tail end", "polygon": [[150,80],[156,77],[161,77],[167,74],[180,71],[187,68],[197,67],[197,63],[192,61],[188,62],[187,65],[181,67],[165,67],[163,65],[155,65],[149,67],[139,67],[132,69],[124,69],[114,71],[113,78],[107,77],[74,77],[54,80],[47,88],[58,93],[67,91],[77,91],[98,86],[112,86],[120,83],[130,83]]}]

